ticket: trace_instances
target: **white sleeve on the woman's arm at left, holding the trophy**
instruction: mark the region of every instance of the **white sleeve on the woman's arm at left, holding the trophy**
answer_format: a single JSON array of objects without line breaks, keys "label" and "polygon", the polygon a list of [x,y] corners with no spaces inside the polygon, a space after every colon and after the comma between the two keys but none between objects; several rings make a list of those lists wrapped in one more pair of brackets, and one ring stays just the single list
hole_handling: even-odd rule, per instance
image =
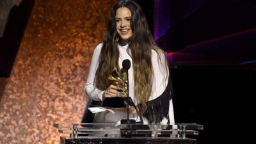
[{"label": "white sleeve on the woman's arm at left, holding the trophy", "polygon": [[87,77],[86,84],[84,86],[86,95],[90,99],[95,100],[95,101],[102,101],[102,94],[104,93],[104,91],[96,88],[95,83],[94,83],[96,70],[99,65],[99,56],[100,56],[101,48],[102,48],[102,44],[99,44],[99,45],[97,45],[97,47],[95,48],[95,50],[93,52],[89,74]]}]

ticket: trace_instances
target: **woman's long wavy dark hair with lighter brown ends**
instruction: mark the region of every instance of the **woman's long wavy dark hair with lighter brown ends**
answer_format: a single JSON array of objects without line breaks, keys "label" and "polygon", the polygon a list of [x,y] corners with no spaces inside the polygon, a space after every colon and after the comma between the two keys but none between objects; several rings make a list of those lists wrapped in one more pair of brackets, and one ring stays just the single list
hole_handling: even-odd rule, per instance
[{"label": "woman's long wavy dark hair with lighter brown ends", "polygon": [[[113,68],[120,69],[118,67],[118,40],[120,40],[120,37],[116,31],[115,15],[116,10],[121,7],[128,8],[132,13],[130,20],[132,36],[129,40],[129,49],[131,50],[134,71],[134,97],[136,97],[137,104],[140,104],[140,113],[143,113],[147,108],[145,102],[147,102],[152,92],[152,50],[157,52],[159,60],[161,60],[159,55],[163,54],[163,51],[154,42],[145,15],[140,6],[134,1],[121,0],[113,6],[108,19],[107,32],[103,39],[95,82],[97,88],[106,90],[109,86],[107,77],[111,70]],[[165,59],[161,61],[168,73]]]}]

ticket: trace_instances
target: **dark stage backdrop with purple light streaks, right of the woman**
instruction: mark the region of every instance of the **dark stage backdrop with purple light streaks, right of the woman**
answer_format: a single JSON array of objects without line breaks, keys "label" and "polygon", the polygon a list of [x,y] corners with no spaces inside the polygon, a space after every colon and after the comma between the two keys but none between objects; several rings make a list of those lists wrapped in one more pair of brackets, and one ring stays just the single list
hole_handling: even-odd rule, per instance
[{"label": "dark stage backdrop with purple light streaks, right of the woman", "polygon": [[195,136],[199,144],[250,141],[256,1],[151,1],[153,19],[145,3],[140,1],[169,61],[175,122],[203,124],[204,131]]}]

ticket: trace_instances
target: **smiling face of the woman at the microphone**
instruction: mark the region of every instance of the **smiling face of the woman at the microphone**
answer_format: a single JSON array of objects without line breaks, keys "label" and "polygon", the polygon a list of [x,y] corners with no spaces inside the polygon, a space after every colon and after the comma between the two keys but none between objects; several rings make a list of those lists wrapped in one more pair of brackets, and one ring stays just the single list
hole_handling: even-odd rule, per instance
[{"label": "smiling face of the woman at the microphone", "polygon": [[120,38],[124,41],[129,41],[132,36],[130,20],[132,17],[131,11],[126,7],[121,7],[116,10],[116,31]]}]

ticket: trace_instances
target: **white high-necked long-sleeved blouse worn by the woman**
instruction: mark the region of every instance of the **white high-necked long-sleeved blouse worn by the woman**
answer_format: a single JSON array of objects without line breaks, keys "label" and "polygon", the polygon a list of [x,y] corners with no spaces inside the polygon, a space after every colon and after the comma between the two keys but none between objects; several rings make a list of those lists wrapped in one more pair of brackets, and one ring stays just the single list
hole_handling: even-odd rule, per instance
[{"label": "white high-necked long-sleeved blouse worn by the woman", "polygon": [[[101,49],[102,49],[102,44],[99,44],[97,45],[97,47],[95,48],[95,51],[93,52],[90,71],[88,74],[86,84],[84,86],[86,95],[90,97],[90,99],[96,100],[96,101],[102,101],[102,95],[104,93],[104,91],[96,88],[94,83],[96,70],[99,65],[99,56],[100,56]],[[136,104],[136,100],[134,100],[135,96],[134,96],[134,80],[133,80],[131,51],[129,51],[128,49],[128,44],[124,46],[118,45],[118,50],[120,53],[119,59],[118,59],[118,65],[120,68],[122,68],[122,61],[124,61],[125,59],[128,59],[131,61],[131,68],[129,69],[129,97],[131,97],[131,99]],[[161,56],[161,61],[163,61],[165,58],[163,52],[160,53],[160,56]],[[168,73],[166,74],[166,70],[163,67],[164,64],[162,64],[161,61],[159,61],[158,59],[157,52],[152,50],[152,67],[153,67],[154,76],[152,79],[152,93],[148,100],[154,100],[157,97],[159,97],[164,92],[168,84],[169,74]],[[174,124],[172,99],[170,100],[169,116],[170,116],[170,124]]]}]

